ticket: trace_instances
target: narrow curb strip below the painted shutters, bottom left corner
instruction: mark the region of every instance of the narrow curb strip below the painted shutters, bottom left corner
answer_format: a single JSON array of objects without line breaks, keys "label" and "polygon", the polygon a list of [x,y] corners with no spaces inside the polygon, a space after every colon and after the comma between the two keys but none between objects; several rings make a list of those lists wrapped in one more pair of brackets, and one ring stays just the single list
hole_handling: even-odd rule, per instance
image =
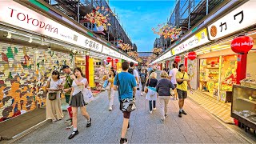
[{"label": "narrow curb strip below the painted shutters, bottom left corner", "polygon": [[15,143],[15,142],[18,142],[18,140],[24,138],[27,134],[30,134],[30,133],[33,132],[34,130],[37,130],[37,129],[40,128],[41,126],[46,125],[47,123],[50,123],[50,120],[44,120],[44,121],[38,123],[37,125],[32,126],[32,127],[30,127],[29,129],[23,131],[22,133],[17,134],[17,135],[15,135],[14,137],[10,138],[10,141],[6,141],[6,142],[3,142],[3,143]]}]

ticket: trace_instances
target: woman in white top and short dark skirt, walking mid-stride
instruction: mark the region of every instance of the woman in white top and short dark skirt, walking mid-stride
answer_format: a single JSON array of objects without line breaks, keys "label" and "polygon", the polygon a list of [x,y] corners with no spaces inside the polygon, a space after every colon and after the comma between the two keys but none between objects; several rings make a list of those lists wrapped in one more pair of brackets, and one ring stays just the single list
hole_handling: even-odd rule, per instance
[{"label": "woman in white top and short dark skirt, walking mid-stride", "polygon": [[86,111],[86,102],[82,95],[82,91],[87,88],[87,79],[83,77],[82,70],[78,67],[74,69],[74,74],[70,75],[70,78],[73,79],[70,106],[72,106],[74,130],[70,134],[69,139],[72,139],[78,134],[78,107],[80,107],[82,115],[87,119],[86,127],[90,127],[91,118]]}]

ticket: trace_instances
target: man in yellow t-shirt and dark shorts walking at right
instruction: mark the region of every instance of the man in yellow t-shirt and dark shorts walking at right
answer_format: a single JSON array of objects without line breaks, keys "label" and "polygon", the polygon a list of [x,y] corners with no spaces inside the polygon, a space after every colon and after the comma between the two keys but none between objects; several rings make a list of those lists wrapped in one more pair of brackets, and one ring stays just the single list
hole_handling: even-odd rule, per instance
[{"label": "man in yellow t-shirt and dark shorts walking at right", "polygon": [[183,106],[185,99],[187,98],[187,86],[189,86],[190,90],[192,91],[192,87],[190,86],[190,77],[186,73],[186,66],[184,66],[184,64],[179,65],[178,73],[176,74],[176,80],[179,106],[178,117],[182,118],[182,114],[186,115],[186,111],[183,110]]}]

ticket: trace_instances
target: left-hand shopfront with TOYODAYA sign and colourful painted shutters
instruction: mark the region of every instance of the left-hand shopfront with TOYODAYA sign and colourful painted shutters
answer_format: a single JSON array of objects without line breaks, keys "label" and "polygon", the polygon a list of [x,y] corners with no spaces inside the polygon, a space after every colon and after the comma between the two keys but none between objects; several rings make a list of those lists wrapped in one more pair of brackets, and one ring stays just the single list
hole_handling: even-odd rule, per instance
[{"label": "left-hand shopfront with TOYODAYA sign and colourful painted shutters", "polygon": [[0,5],[0,35],[0,122],[45,106],[46,81],[62,65],[80,67],[95,86],[95,70],[109,55],[102,43],[11,0]]}]

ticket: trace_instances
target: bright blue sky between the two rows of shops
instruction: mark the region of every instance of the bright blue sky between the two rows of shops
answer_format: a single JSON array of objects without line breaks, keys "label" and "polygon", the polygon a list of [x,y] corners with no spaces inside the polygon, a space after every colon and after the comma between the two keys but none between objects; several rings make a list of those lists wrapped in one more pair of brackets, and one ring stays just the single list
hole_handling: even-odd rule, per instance
[{"label": "bright blue sky between the two rows of shops", "polygon": [[167,22],[174,10],[174,0],[110,0],[109,6],[118,14],[121,26],[138,47],[138,52],[152,51],[155,38],[152,28]]}]

